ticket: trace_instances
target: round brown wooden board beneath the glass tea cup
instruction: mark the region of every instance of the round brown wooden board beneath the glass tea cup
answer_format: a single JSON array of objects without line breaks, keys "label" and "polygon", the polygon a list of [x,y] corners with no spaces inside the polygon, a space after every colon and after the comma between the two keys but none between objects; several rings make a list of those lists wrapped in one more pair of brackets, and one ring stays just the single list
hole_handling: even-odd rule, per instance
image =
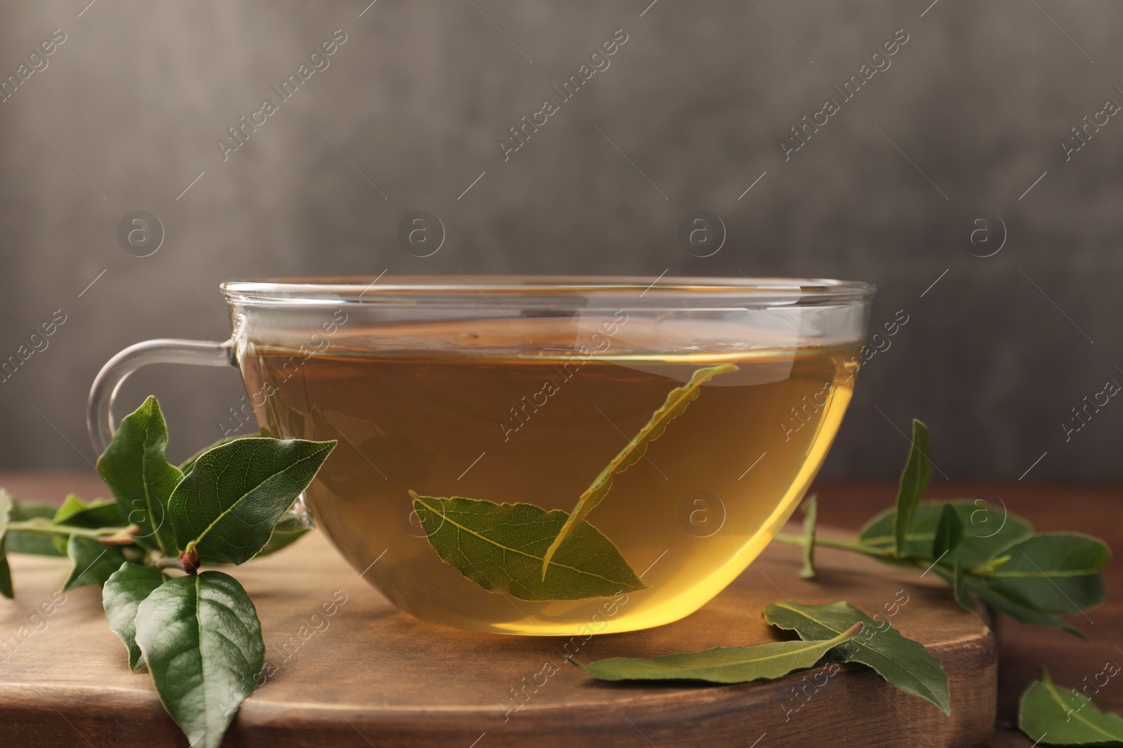
[{"label": "round brown wooden board beneath the glass tea cup", "polygon": [[[99,590],[74,590],[52,616],[36,619],[38,606],[58,590],[67,562],[11,561],[17,600],[0,600],[0,644],[9,646],[0,654],[0,746],[186,746],[148,676],[129,673],[125,649],[106,625]],[[234,571],[257,604],[266,659],[276,672],[243,707],[223,746],[767,748],[985,741],[994,728],[997,681],[990,629],[960,610],[932,575],[920,579],[917,572],[831,550],[819,552],[819,567],[816,580],[800,580],[798,550],[774,544],[693,616],[646,631],[594,637],[578,658],[774,640],[776,630],[765,625],[760,610],[784,599],[844,599],[874,613],[907,595],[891,620],[943,663],[951,681],[950,718],[858,666],[829,680],[807,671],[732,686],[596,682],[563,659],[566,639],[469,634],[399,612],[312,533],[276,556]],[[325,616],[322,606],[332,602],[334,615]],[[519,703],[512,690],[536,681],[545,684],[528,686],[521,709],[506,711]]]}]

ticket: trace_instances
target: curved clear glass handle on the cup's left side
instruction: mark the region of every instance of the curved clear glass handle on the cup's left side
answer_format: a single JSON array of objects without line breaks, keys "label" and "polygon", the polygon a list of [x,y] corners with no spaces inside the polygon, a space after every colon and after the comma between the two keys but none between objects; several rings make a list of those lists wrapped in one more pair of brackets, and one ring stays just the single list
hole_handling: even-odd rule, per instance
[{"label": "curved clear glass handle on the cup's left side", "polygon": [[198,340],[161,339],[129,345],[109,359],[90,388],[85,408],[85,426],[98,454],[106,451],[117,426],[113,424],[113,400],[121,382],[130,373],[149,363],[191,363],[200,367],[235,367],[238,359],[234,341],[221,343]]}]

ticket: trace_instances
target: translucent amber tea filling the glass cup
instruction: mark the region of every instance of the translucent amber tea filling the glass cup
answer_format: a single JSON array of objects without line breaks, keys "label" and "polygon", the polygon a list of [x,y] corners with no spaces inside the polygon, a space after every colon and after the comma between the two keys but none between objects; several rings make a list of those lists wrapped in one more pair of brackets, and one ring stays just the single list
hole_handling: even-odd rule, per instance
[{"label": "translucent amber tea filling the glass cup", "polygon": [[[633,320],[628,335],[648,344],[615,352],[599,342],[623,323],[614,320],[590,334],[568,320],[520,318],[526,345],[500,344],[508,320],[410,323],[392,335],[349,324],[319,349],[250,340],[239,363],[273,435],[339,441],[307,504],[399,608],[482,631],[627,631],[696,610],[787,520],[850,400],[859,343],[798,345],[761,332],[751,345],[660,353],[658,323]],[[733,366],[696,388],[584,518],[642,589],[522,599],[435,552],[435,520],[411,496],[570,512],[668,394],[719,364]]]}]

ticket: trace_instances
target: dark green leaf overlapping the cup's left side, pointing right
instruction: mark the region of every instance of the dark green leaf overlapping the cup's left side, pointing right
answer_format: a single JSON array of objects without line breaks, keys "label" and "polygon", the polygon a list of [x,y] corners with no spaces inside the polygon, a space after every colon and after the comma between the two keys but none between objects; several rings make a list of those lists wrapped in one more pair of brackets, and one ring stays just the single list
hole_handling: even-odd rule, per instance
[{"label": "dark green leaf overlapping the cup's left side, pointing right", "polygon": [[194,543],[204,563],[249,561],[335,445],[247,436],[206,452],[168,501],[179,546]]}]

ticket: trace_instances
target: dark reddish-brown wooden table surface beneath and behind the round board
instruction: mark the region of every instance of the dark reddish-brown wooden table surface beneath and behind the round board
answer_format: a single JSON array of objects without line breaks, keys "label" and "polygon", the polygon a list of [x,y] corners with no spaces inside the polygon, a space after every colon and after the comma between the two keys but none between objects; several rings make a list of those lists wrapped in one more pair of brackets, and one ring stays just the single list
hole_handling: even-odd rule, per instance
[{"label": "dark reddish-brown wooden table surface beneath and behind the round board", "polygon": [[[66,492],[84,498],[106,493],[100,479],[84,473],[0,472],[0,486],[28,500],[58,501]],[[856,529],[866,518],[892,504],[895,486],[888,481],[819,484],[820,521]],[[1123,548],[1123,487],[1117,484],[1048,484],[1022,482],[933,481],[928,498],[982,498],[998,502],[1032,521],[1038,529],[1079,530],[1104,538],[1113,548]],[[1072,617],[1089,641],[1061,631],[1050,631],[1001,618],[998,671],[998,719],[992,747],[1032,742],[1015,727],[1017,699],[1025,685],[1046,665],[1058,683],[1076,685],[1098,673],[1105,662],[1123,661],[1123,561],[1116,555],[1105,570],[1107,602]],[[17,585],[18,585],[18,579]],[[143,676],[137,676],[143,677]],[[1123,686],[1107,685],[1096,694],[1105,709],[1123,712]],[[2,730],[0,730],[2,732]],[[2,744],[0,739],[0,744]]]}]

